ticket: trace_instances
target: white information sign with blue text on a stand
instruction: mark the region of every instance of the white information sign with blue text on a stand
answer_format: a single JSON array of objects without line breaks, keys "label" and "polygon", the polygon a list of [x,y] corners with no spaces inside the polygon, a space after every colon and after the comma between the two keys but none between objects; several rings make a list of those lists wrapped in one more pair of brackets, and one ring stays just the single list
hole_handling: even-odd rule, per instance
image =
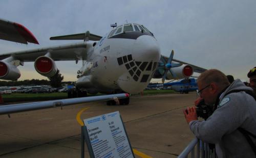
[{"label": "white information sign with blue text on a stand", "polygon": [[96,158],[134,157],[118,111],[84,119],[83,123]]}]

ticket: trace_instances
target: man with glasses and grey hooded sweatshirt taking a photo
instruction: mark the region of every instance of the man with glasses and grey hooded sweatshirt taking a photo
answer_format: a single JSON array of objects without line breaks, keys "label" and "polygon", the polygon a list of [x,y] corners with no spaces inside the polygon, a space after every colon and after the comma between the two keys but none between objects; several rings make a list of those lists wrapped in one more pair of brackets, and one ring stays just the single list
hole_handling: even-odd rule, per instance
[{"label": "man with glasses and grey hooded sweatshirt taking a photo", "polygon": [[240,80],[231,85],[216,69],[203,72],[198,80],[200,98],[195,101],[212,109],[205,121],[197,108],[183,111],[190,130],[204,142],[215,144],[218,157],[256,157],[256,101],[253,90]]}]

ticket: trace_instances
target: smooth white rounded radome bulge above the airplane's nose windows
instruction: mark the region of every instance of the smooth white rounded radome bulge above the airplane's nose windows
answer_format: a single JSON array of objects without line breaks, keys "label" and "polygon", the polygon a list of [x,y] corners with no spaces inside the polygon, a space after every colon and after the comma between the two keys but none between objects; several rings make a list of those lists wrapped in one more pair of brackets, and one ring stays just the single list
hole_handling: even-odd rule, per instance
[{"label": "smooth white rounded radome bulge above the airplane's nose windows", "polygon": [[137,60],[145,61],[148,59],[157,62],[160,60],[160,48],[157,40],[152,36],[143,35],[138,37],[133,50]]}]

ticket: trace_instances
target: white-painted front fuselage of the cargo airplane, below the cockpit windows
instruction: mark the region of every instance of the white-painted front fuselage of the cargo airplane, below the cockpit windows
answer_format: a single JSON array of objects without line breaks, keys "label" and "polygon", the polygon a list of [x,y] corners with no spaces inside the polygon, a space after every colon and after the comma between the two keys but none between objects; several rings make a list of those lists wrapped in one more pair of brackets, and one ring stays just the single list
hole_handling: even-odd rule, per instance
[{"label": "white-painted front fuselage of the cargo airplane, below the cockpit windows", "polygon": [[[103,39],[103,40],[102,40]],[[119,65],[117,58],[132,55],[132,61],[159,62],[160,48],[157,40],[148,35],[137,39],[106,38],[104,36],[93,47],[88,47],[87,60],[79,70],[82,72],[76,86],[88,93],[111,93],[113,90],[138,93],[151,81],[155,69],[142,71],[135,81],[124,64]],[[147,63],[146,66],[149,64]],[[141,82],[143,74],[150,75],[146,82]]]}]

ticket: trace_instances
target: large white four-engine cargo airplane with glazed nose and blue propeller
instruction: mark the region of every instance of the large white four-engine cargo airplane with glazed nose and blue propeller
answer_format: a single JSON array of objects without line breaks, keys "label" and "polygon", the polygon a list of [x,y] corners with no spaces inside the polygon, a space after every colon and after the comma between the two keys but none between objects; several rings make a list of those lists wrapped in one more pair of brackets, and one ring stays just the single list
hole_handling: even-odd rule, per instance
[{"label": "large white four-engine cargo airplane with glazed nose and blue propeller", "polygon": [[[104,94],[139,93],[152,78],[188,78],[193,72],[206,69],[160,54],[154,34],[141,24],[126,23],[113,27],[103,37],[90,32],[51,37],[51,40],[83,40],[83,42],[9,52],[0,55],[0,79],[17,80],[17,66],[34,61],[35,70],[47,77],[53,76],[57,67],[54,61],[81,60],[77,71],[76,90],[69,96],[82,97],[87,93]],[[108,102],[111,104],[111,102]],[[129,98],[120,100],[129,104]]]}]

